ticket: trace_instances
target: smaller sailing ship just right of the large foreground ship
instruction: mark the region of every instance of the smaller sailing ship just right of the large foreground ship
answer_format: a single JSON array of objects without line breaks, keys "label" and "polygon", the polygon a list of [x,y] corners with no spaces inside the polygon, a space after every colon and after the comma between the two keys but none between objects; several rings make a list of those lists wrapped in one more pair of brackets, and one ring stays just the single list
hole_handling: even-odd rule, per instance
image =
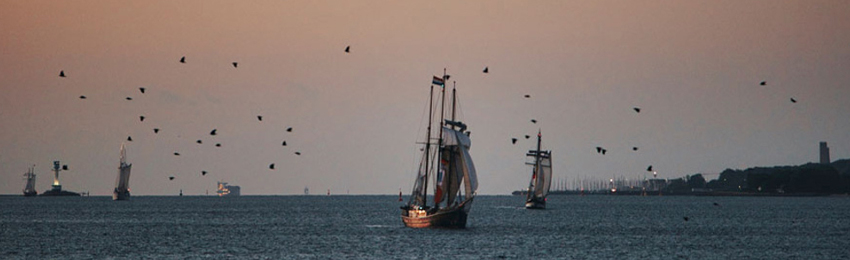
[{"label": "smaller sailing ship just right of the large foreground ship", "polygon": [[540,149],[541,139],[541,132],[538,131],[537,149],[529,150],[526,154],[526,156],[534,157],[533,163],[525,163],[534,166],[525,197],[525,208],[527,209],[545,209],[546,195],[549,194],[549,187],[552,185],[552,151]]}]

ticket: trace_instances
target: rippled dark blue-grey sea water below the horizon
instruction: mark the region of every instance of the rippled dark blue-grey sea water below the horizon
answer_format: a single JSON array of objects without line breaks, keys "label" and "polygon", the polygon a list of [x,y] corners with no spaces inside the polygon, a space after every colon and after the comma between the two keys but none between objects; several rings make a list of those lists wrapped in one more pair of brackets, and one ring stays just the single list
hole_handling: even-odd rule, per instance
[{"label": "rippled dark blue-grey sea water below the horizon", "polygon": [[465,230],[405,228],[397,199],[6,196],[0,258],[850,259],[849,197],[550,196],[526,210],[478,196]]}]

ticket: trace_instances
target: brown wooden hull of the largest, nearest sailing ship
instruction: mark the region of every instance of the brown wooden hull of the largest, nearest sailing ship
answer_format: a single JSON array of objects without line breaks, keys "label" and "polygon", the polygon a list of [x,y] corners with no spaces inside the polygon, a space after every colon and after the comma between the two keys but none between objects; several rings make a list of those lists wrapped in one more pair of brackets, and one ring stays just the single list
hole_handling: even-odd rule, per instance
[{"label": "brown wooden hull of the largest, nearest sailing ship", "polygon": [[466,218],[472,200],[465,201],[454,208],[445,208],[436,212],[421,209],[403,209],[401,221],[412,228],[466,228]]}]

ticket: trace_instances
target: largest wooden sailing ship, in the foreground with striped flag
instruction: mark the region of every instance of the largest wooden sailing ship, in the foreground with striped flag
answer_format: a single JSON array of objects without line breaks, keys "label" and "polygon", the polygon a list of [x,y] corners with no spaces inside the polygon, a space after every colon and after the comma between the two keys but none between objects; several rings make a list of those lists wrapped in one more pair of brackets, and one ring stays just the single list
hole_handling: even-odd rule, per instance
[{"label": "largest wooden sailing ship, in the foreground with striped flag", "polygon": [[[425,133],[422,159],[417,170],[410,200],[401,207],[401,220],[412,228],[465,228],[472,200],[478,190],[478,177],[472,157],[466,125],[455,119],[457,95],[452,89],[451,104],[446,108],[445,82],[449,75],[434,77],[428,99],[428,128]],[[434,85],[440,86],[439,115],[434,102]],[[446,119],[446,115],[450,116]],[[437,128],[432,131],[435,120]],[[432,132],[437,132],[432,139]],[[432,183],[433,196],[429,204],[428,187]]]}]

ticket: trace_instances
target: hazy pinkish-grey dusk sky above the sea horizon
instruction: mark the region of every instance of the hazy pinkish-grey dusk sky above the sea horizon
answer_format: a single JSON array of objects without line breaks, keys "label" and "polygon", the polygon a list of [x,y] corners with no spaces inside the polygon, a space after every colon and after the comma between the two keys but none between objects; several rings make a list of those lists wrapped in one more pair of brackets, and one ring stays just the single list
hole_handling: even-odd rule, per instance
[{"label": "hazy pinkish-grey dusk sky above the sea horizon", "polygon": [[20,194],[32,164],[49,189],[54,160],[65,189],[111,194],[127,136],[134,195],[220,180],[408,194],[443,68],[480,194],[527,185],[522,136],[538,128],[558,179],[797,165],[820,141],[848,158],[848,14],[848,1],[0,1],[0,194]]}]

